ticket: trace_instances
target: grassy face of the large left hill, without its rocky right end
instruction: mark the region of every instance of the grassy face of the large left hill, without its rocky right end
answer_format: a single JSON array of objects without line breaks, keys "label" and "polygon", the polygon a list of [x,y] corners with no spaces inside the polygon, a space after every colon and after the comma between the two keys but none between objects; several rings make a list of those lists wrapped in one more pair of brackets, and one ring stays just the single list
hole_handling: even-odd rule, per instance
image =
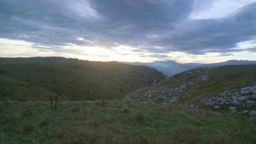
[{"label": "grassy face of the large left hill, without its rocky right end", "polygon": [[[130,85],[113,79],[122,69],[152,73],[149,68],[117,62],[42,62],[0,61],[0,73],[26,81],[72,100],[120,99],[134,90]],[[138,83],[139,87],[143,84]]]}]

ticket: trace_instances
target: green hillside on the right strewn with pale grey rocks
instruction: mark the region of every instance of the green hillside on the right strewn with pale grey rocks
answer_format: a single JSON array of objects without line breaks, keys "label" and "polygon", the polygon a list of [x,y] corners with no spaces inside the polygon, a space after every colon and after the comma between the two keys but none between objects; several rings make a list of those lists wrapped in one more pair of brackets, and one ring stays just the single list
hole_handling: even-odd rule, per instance
[{"label": "green hillside on the right strewn with pale grey rocks", "polygon": [[256,116],[256,64],[197,68],[123,100],[154,101]]}]

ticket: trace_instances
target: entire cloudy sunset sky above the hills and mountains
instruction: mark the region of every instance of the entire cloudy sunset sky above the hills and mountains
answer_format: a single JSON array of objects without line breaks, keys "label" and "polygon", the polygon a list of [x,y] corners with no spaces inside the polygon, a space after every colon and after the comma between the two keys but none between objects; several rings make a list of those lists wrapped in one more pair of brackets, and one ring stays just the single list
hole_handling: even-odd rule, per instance
[{"label": "entire cloudy sunset sky above the hills and mountains", "polygon": [[256,0],[1,0],[0,57],[256,61]]}]

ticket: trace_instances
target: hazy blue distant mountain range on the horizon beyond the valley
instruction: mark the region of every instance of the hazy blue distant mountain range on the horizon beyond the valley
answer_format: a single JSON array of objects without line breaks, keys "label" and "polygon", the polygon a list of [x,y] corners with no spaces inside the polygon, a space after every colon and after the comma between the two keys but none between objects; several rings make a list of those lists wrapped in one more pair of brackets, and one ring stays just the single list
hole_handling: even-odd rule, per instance
[{"label": "hazy blue distant mountain range on the horizon beyond the valley", "polygon": [[256,64],[256,61],[245,61],[245,60],[229,60],[226,62],[220,63],[177,63],[175,61],[155,61],[150,63],[141,63],[141,62],[120,62],[132,65],[146,65],[148,67],[156,68],[162,71],[167,76],[172,76],[174,74],[181,73],[182,71],[202,68],[202,67],[215,67],[222,65],[242,65],[242,64]]}]

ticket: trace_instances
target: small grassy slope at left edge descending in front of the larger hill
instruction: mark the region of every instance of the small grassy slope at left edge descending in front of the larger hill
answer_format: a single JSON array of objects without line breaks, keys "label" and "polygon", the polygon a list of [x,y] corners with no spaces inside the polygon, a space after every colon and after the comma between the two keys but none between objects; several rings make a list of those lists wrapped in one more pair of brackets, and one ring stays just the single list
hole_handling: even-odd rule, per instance
[{"label": "small grassy slope at left edge descending in front of the larger hill", "polygon": [[55,93],[31,85],[23,81],[11,79],[7,76],[0,75],[0,99],[15,100],[49,100]]}]

